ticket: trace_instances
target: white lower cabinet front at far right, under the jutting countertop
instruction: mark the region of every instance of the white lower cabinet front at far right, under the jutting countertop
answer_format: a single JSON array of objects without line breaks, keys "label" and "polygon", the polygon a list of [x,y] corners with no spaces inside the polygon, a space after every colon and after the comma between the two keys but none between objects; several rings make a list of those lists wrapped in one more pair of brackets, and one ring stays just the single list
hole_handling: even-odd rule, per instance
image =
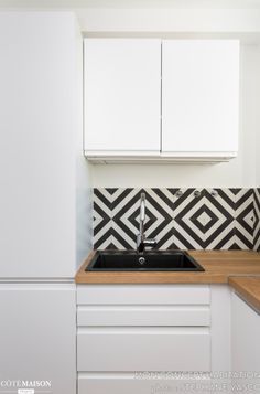
[{"label": "white lower cabinet front at far right, under the jutting countertop", "polygon": [[[231,366],[234,387],[248,392],[260,387],[260,315],[243,301],[236,292],[231,299]],[[239,373],[243,372],[239,376]],[[256,373],[256,375],[253,375]],[[236,374],[238,379],[236,379]],[[256,386],[253,386],[256,385]],[[243,390],[243,391],[242,391]]]}]

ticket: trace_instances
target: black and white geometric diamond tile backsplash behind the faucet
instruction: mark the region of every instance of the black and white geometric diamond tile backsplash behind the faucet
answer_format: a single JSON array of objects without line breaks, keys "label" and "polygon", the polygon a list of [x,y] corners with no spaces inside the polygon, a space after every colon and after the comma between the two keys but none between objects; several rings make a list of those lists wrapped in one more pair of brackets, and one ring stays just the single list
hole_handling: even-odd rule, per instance
[{"label": "black and white geometric diamond tile backsplash behind the faucet", "polygon": [[94,189],[94,248],[136,249],[140,194],[159,249],[260,249],[260,189]]}]

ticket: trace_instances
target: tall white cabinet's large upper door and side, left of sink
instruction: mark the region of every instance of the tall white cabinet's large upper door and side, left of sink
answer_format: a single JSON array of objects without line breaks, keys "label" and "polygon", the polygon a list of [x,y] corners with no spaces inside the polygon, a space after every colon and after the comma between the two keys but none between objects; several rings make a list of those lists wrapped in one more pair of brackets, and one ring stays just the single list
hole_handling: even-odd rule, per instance
[{"label": "tall white cabinet's large upper door and side, left of sink", "polygon": [[82,52],[73,13],[0,13],[1,278],[75,274]]}]

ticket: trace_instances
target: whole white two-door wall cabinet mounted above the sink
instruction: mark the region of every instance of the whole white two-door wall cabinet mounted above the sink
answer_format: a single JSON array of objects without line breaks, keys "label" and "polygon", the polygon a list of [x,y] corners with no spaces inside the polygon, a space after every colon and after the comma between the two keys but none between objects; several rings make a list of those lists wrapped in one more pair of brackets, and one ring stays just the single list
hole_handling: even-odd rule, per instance
[{"label": "whole white two-door wall cabinet mounted above the sink", "polygon": [[238,111],[237,40],[85,39],[89,160],[227,161]]}]

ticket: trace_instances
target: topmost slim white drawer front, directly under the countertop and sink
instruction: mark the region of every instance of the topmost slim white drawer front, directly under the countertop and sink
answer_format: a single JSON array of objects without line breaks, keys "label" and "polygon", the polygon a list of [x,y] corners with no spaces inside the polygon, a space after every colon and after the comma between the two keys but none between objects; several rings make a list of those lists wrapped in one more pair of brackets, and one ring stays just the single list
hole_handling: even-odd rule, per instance
[{"label": "topmost slim white drawer front, directly under the countertop and sink", "polygon": [[78,285],[78,305],[209,305],[207,285]]}]

